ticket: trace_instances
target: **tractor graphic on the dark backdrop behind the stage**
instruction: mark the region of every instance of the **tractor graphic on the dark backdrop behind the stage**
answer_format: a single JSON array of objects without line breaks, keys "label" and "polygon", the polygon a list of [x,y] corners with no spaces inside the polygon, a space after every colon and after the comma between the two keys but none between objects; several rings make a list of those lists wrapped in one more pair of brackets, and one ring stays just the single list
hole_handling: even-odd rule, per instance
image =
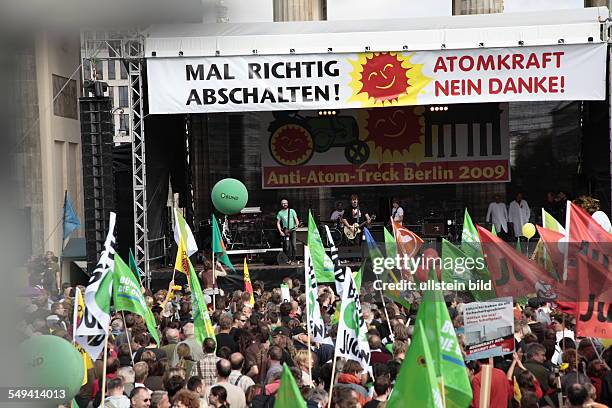
[{"label": "tractor graphic on the dark backdrop behind the stage", "polygon": [[273,115],[268,147],[272,158],[283,166],[305,164],[314,152],[324,153],[333,147],[343,147],[344,157],[353,165],[361,165],[370,157],[370,148],[359,140],[359,128],[352,116],[305,117],[297,111]]}]

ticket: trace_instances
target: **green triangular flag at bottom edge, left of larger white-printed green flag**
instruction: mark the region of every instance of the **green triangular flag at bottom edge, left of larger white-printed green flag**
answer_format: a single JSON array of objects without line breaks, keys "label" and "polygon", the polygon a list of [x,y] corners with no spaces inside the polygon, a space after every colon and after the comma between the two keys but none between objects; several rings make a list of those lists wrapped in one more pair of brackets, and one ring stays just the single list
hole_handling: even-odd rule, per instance
[{"label": "green triangular flag at bottom edge, left of larger white-printed green flag", "polygon": [[[434,368],[432,351],[427,344],[423,323],[417,319],[412,342],[395,380],[387,408],[443,408],[442,395]],[[463,369],[465,372],[465,368]],[[467,377],[467,373],[465,374]],[[469,383],[468,383],[469,385]],[[470,399],[471,399],[470,389]],[[408,404],[408,402],[410,402]],[[469,405],[469,400],[463,408]],[[448,399],[447,399],[447,405]]]}]

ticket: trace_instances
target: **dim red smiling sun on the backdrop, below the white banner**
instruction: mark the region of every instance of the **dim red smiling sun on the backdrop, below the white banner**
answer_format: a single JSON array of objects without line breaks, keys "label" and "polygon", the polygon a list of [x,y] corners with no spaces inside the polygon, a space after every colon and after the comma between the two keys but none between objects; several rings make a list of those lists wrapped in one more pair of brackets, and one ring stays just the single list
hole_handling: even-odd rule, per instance
[{"label": "dim red smiling sun on the backdrop, below the white banner", "polygon": [[360,109],[359,138],[378,163],[421,163],[424,158],[425,110],[421,106]]}]

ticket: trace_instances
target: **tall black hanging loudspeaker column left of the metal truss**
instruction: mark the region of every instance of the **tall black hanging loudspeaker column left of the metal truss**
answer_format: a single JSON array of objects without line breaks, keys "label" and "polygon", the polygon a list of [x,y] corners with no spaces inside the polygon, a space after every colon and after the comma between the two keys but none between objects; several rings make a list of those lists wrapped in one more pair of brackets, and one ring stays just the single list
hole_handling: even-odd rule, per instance
[{"label": "tall black hanging loudspeaker column left of the metal truss", "polygon": [[115,210],[112,104],[108,97],[79,98],[85,207],[85,249],[91,274]]}]

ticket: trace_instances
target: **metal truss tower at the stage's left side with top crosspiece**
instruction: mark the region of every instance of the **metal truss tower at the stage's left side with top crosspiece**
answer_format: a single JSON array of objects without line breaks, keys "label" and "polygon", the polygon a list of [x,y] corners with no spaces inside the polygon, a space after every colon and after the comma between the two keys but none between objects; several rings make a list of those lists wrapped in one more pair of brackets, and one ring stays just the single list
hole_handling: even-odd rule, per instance
[{"label": "metal truss tower at the stage's left side with top crosspiece", "polygon": [[[81,36],[83,58],[121,60],[129,80],[130,140],[132,143],[132,194],[134,199],[134,257],[151,287],[149,237],[147,228],[147,166],[144,131],[144,36],[139,30],[97,32],[95,38]],[[87,79],[87,78],[85,78]]]}]

